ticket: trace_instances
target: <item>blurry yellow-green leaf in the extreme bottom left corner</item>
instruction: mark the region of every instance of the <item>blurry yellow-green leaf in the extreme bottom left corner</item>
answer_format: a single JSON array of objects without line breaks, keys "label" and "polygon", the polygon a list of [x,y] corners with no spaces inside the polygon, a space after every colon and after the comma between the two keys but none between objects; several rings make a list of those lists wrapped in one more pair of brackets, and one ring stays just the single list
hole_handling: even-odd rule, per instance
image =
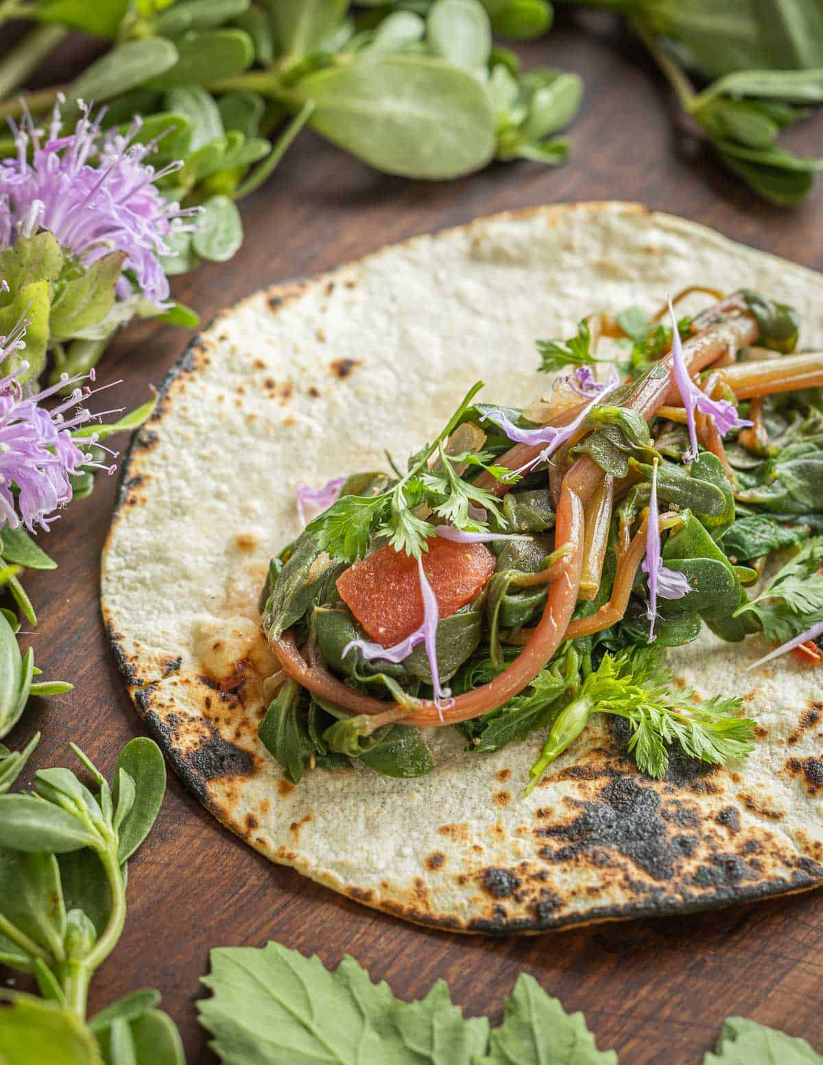
[{"label": "blurry yellow-green leaf in the extreme bottom left corner", "polygon": [[68,1010],[3,989],[0,1015],[2,1065],[103,1065],[94,1036]]}]

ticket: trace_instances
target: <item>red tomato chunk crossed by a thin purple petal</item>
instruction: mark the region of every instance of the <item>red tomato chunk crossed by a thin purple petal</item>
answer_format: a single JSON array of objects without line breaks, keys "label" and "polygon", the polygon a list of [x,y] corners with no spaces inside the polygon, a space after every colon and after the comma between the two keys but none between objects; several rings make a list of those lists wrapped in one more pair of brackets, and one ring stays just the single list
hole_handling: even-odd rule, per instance
[{"label": "red tomato chunk crossed by a thin purple petal", "polygon": [[[494,573],[494,555],[481,543],[455,543],[435,537],[423,556],[441,618],[471,603]],[[386,544],[355,562],[338,578],[340,597],[384,648],[405,640],[423,623],[417,560]]]}]

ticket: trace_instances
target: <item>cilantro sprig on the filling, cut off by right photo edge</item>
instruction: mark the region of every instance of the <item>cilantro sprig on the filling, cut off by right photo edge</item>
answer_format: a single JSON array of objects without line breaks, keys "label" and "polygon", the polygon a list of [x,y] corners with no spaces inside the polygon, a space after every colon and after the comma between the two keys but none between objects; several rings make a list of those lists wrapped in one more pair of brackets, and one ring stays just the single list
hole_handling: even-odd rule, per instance
[{"label": "cilantro sprig on the filling, cut off by right photo edge", "polygon": [[775,643],[785,643],[823,621],[823,573],[818,572],[822,561],[823,537],[811,537],[759,595],[735,611],[735,617],[754,615],[763,636]]}]

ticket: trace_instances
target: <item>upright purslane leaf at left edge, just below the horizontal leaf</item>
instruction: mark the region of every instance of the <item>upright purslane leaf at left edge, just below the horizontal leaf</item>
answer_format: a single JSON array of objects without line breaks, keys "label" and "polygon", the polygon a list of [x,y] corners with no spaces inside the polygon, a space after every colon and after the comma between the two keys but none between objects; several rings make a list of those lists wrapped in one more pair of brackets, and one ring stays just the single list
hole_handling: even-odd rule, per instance
[{"label": "upright purslane leaf at left edge, just below the horizontal leaf", "polygon": [[53,854],[0,850],[0,914],[39,947],[61,956],[66,908]]}]

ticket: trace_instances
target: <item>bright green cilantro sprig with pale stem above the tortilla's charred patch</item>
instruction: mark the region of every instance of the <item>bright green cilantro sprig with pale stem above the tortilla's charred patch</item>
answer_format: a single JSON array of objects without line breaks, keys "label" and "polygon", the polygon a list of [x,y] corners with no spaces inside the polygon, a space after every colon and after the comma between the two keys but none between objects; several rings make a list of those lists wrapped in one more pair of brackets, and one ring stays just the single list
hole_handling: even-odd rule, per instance
[{"label": "bright green cilantro sprig with pale stem above the tortilla's charred patch", "polygon": [[613,714],[630,728],[629,753],[649,776],[663,776],[669,768],[670,744],[692,758],[722,765],[754,750],[755,722],[737,717],[741,700],[715,695],[692,701],[692,689],[675,690],[663,653],[637,648],[618,657],[604,655],[595,672],[560,711],[540,757],[529,770],[534,787],[547,767],[580,735],[592,714]]}]

